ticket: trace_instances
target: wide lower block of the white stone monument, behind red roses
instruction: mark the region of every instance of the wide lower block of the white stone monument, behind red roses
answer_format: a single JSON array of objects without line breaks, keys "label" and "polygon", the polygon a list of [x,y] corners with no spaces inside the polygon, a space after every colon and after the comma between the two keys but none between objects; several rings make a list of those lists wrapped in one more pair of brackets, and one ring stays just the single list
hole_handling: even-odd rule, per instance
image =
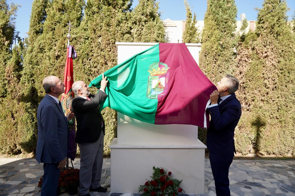
[{"label": "wide lower block of the white stone monument, behind red roses", "polygon": [[183,179],[186,193],[204,193],[206,146],[198,139],[194,145],[127,145],[114,138],[111,149],[111,192],[138,193],[153,174],[153,166],[172,172],[171,177]]}]

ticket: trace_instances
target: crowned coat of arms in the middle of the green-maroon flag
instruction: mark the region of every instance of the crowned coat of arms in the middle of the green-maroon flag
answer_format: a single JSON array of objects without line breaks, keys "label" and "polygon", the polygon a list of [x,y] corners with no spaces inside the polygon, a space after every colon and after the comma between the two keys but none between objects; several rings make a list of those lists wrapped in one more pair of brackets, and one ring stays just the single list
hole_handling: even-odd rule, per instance
[{"label": "crowned coat of arms in the middle of the green-maroon flag", "polygon": [[163,62],[153,62],[150,64],[148,72],[148,89],[147,98],[157,99],[160,96],[165,95],[168,91],[168,78],[169,72],[168,65]]}]

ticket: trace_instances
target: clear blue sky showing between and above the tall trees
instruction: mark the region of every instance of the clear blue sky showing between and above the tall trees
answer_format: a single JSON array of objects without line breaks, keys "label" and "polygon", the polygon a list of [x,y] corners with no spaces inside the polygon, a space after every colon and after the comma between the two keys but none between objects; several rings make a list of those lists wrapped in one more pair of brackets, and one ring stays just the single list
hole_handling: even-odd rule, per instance
[{"label": "clear blue sky showing between and above the tall trees", "polygon": [[[20,7],[17,11],[16,30],[20,32],[20,37],[27,37],[26,32],[29,31],[29,22],[31,15],[31,8],[33,0],[7,0],[8,3],[19,4]],[[169,18],[171,20],[185,20],[186,10],[183,0],[158,0],[160,9],[162,12],[161,18],[163,20]],[[192,11],[196,13],[197,20],[204,20],[204,14],[207,9],[207,0],[187,0],[192,8]],[[256,20],[257,11],[255,7],[261,8],[263,0],[235,0],[238,13],[237,20],[240,20],[240,14],[245,13],[248,20]],[[133,6],[138,4],[138,0],[133,1]],[[290,8],[288,11],[289,20],[292,19],[292,15],[295,11],[295,1],[287,0],[287,5]]]}]

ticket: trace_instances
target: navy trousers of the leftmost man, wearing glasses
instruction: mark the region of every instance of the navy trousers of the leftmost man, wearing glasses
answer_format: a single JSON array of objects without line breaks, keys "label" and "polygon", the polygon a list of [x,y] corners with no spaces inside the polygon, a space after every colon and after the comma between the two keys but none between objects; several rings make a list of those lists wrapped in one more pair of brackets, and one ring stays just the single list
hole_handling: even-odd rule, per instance
[{"label": "navy trousers of the leftmost man, wearing glasses", "polygon": [[57,195],[58,180],[60,176],[60,169],[57,168],[58,163],[44,163],[43,164],[43,180],[41,188],[41,196]]}]

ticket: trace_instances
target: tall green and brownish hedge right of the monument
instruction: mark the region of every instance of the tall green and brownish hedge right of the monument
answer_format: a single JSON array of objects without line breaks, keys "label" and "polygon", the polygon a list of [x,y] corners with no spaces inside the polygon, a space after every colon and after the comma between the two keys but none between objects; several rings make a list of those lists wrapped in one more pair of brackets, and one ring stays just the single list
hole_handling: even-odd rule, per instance
[{"label": "tall green and brownish hedge right of the monument", "polygon": [[[234,1],[208,1],[200,68],[213,82],[225,74],[240,80],[235,144],[242,154],[295,155],[295,35],[287,10],[285,0],[264,1],[255,31],[240,35],[233,34]],[[199,138],[205,142],[206,131],[200,129]]]}]

